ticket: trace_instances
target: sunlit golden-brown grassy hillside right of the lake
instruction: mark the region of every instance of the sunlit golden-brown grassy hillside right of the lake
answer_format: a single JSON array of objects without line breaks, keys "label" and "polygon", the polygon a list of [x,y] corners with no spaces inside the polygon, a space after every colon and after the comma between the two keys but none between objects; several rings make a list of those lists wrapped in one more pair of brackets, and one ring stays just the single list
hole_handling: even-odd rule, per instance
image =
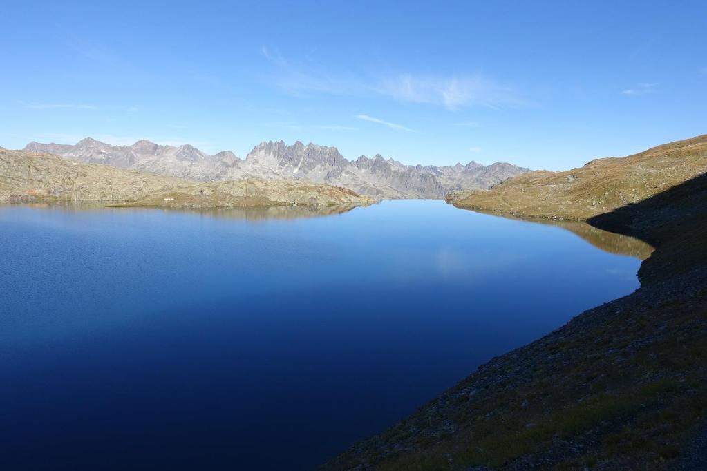
[{"label": "sunlit golden-brown grassy hillside right of the lake", "polygon": [[643,201],[707,172],[707,134],[566,172],[530,172],[459,201],[458,208],[585,220]]}]

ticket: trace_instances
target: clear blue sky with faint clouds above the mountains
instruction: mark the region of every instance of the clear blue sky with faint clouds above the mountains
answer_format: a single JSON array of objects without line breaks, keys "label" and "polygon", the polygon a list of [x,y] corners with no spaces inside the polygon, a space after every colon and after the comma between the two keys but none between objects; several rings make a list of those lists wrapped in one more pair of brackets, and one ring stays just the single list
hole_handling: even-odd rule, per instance
[{"label": "clear blue sky with faint clouds above the mountains", "polygon": [[567,169],[707,133],[704,1],[199,3],[5,2],[0,145]]}]

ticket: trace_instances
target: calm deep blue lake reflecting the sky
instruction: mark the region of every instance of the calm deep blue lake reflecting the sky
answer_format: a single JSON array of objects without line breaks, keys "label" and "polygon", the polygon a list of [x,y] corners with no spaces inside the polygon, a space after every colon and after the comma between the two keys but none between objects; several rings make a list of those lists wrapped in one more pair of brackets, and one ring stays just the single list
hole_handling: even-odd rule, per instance
[{"label": "calm deep blue lake reflecting the sky", "polygon": [[638,287],[596,229],[292,211],[0,208],[0,468],[309,469]]}]

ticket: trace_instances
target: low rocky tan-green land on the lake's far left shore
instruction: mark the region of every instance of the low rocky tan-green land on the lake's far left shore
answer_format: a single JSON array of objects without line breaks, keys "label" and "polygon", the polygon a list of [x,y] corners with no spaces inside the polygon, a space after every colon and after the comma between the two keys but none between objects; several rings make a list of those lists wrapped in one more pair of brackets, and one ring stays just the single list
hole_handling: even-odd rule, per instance
[{"label": "low rocky tan-green land on the lake's far left shore", "polygon": [[98,201],[175,208],[373,203],[371,198],[325,184],[291,180],[194,184],[18,150],[0,150],[0,201]]}]

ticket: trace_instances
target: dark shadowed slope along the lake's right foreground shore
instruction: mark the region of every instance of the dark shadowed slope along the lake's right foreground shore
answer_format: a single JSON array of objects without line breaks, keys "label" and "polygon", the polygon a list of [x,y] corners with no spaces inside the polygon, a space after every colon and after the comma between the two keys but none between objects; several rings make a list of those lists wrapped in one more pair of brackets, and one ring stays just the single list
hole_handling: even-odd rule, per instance
[{"label": "dark shadowed slope along the lake's right foreground shore", "polygon": [[707,174],[589,222],[656,247],[639,290],[479,366],[325,469],[702,469],[689,452],[707,417]]}]

